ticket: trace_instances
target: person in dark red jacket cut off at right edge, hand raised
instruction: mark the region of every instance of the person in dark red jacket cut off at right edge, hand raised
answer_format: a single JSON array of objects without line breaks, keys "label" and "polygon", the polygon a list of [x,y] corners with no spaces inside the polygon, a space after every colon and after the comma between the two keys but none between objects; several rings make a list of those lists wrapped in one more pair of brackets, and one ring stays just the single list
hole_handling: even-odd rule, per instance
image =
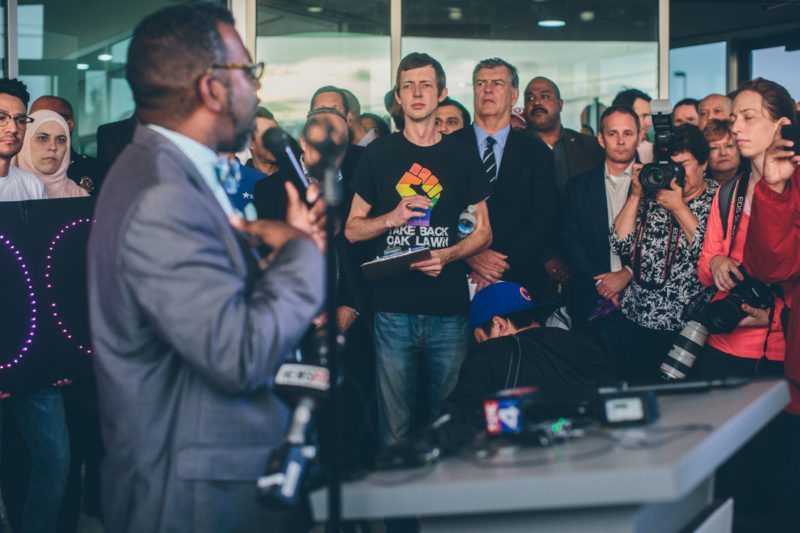
[{"label": "person in dark red jacket cut off at right edge, hand raised", "polygon": [[[792,121],[781,119],[780,126]],[[745,246],[745,266],[760,279],[781,283],[793,302],[787,317],[786,378],[791,403],[772,424],[779,446],[777,515],[786,531],[798,530],[800,494],[800,156],[780,129],[764,158]]]}]

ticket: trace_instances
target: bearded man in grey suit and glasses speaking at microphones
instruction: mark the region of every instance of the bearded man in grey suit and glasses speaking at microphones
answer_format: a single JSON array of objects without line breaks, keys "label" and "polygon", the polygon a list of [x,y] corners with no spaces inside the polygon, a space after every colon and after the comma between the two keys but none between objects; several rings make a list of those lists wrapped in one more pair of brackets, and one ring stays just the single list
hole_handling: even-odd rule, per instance
[{"label": "bearded man in grey suit and glasses speaking at microphones", "polygon": [[[288,421],[275,369],[324,298],[309,235],[321,204],[289,191],[289,224],[232,216],[215,152],[249,139],[250,63],[230,13],[208,4],[164,9],[133,34],[127,78],[147,126],[108,175],[89,243],[110,532],[292,527],[256,503],[255,480]],[[273,250],[265,270],[253,238]]]}]

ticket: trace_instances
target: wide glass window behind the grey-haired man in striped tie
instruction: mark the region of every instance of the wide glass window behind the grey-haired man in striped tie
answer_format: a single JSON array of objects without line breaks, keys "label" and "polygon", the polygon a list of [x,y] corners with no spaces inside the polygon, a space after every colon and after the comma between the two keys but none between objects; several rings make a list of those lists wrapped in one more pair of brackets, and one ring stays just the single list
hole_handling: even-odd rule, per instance
[{"label": "wide glass window behind the grey-haired man in striped tie", "polygon": [[500,57],[519,70],[518,106],[527,82],[546,76],[561,90],[564,125],[576,130],[586,106],[609,105],[622,89],[656,96],[657,35],[657,0],[403,1],[403,54],[439,60],[452,98],[471,109],[473,67]]}]

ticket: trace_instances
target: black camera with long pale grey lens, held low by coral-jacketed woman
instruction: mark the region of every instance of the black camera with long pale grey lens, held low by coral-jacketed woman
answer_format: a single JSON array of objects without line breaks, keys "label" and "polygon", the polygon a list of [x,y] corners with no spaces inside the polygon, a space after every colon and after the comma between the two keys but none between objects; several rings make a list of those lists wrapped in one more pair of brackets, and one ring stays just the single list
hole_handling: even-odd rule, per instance
[{"label": "black camera with long pale grey lens, held low by coral-jacketed woman", "polygon": [[739,267],[742,281],[731,276],[737,285],[722,300],[706,303],[707,296],[699,294],[683,308],[686,325],[675,337],[667,357],[661,363],[661,374],[666,380],[684,379],[691,370],[706,339],[711,333],[730,333],[747,316],[742,304],[757,309],[769,309],[775,302],[775,289]]}]

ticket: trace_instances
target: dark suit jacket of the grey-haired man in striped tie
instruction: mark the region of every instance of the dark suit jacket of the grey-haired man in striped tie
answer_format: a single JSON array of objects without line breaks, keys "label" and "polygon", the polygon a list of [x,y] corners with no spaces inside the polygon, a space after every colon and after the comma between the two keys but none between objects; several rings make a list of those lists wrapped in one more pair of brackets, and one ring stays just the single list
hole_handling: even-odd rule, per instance
[{"label": "dark suit jacket of the grey-haired man in striped tie", "polygon": [[[472,126],[451,133],[478,150]],[[552,256],[557,235],[558,193],[553,179],[553,154],[547,146],[512,129],[500,173],[487,204],[492,226],[491,249],[508,255],[511,268],[504,280],[516,281],[534,296],[548,283],[542,263]]]}]

